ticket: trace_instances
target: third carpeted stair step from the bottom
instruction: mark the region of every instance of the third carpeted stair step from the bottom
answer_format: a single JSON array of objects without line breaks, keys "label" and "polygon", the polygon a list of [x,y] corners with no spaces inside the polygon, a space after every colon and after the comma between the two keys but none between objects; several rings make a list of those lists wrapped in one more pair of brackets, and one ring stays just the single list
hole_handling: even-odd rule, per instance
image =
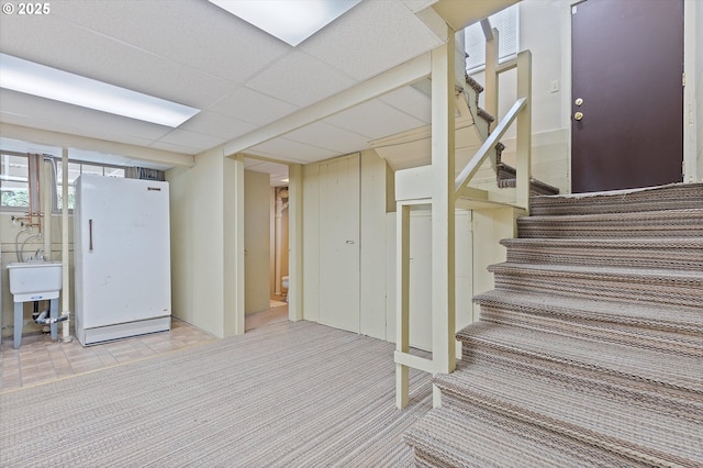
[{"label": "third carpeted stair step from the bottom", "polygon": [[536,330],[478,322],[457,333],[462,355],[475,349],[545,363],[569,365],[617,379],[635,379],[703,398],[703,360],[614,343],[573,338]]}]

